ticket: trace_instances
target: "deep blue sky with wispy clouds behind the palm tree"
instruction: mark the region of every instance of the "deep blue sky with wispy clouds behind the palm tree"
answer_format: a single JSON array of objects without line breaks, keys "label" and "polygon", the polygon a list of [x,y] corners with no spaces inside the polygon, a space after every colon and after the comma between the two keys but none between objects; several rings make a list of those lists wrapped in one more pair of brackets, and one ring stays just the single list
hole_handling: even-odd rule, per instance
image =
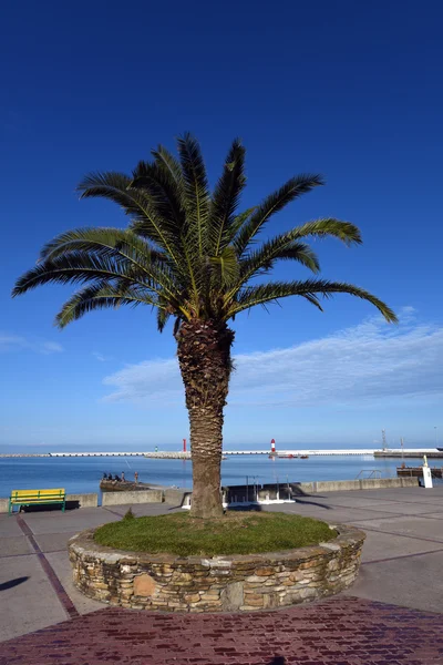
[{"label": "deep blue sky with wispy clouds behind the palm tree", "polygon": [[[55,234],[125,224],[106,202],[78,201],[85,173],[130,171],[186,130],[212,182],[241,136],[244,207],[295,173],[324,174],[269,232],[354,222],[362,247],[316,243],[322,275],[400,314],[389,327],[340,296],[324,314],[292,299],[239,317],[227,446],[372,446],[382,428],[392,444],[431,444],[435,427],[443,442],[442,19],[426,1],[4,8],[0,448],[152,449],[187,436],[172,330],[159,336],[150,309],[92,314],[60,332],[70,288],[10,298]],[[278,276],[303,275],[292,270]]]}]

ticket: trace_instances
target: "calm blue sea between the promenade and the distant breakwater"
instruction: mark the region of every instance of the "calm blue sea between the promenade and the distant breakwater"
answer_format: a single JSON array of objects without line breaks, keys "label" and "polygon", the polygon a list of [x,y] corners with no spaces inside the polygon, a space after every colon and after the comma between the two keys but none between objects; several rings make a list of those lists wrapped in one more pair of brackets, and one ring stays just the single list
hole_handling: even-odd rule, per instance
[{"label": "calm blue sea between the promenade and the distant breakwater", "polygon": [[[419,466],[420,460],[406,460]],[[441,466],[440,460],[430,460]],[[372,456],[309,457],[269,459],[268,456],[228,457],[222,462],[225,485],[265,482],[306,482],[320,480],[354,480],[395,477],[400,459],[374,459]],[[146,459],[143,457],[100,458],[0,458],[0,497],[11,490],[64,488],[66,493],[100,492],[103,473],[125,474],[126,480],[138,473],[141,482],[192,488],[190,460]]]}]

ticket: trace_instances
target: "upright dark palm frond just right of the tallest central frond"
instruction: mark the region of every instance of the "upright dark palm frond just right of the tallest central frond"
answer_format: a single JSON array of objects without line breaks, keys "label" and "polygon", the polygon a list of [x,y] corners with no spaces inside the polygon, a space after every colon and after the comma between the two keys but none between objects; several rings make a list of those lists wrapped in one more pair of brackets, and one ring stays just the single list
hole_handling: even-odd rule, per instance
[{"label": "upright dark palm frond just right of the tallest central frond", "polygon": [[214,190],[208,228],[210,252],[214,256],[231,242],[238,228],[235,211],[246,184],[245,153],[240,141],[235,139]]}]

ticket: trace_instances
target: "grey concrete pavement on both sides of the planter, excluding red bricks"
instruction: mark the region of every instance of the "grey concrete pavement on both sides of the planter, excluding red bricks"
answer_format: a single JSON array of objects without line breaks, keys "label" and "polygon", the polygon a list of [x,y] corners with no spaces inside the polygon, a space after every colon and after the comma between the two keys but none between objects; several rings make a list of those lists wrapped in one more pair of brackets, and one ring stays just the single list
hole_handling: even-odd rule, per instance
[{"label": "grey concrete pavement on both sides of the planter, excluding red bricks", "polygon": [[[105,607],[71,582],[66,542],[115,521],[127,505],[0,515],[0,635],[9,640]],[[268,507],[363,529],[361,574],[347,592],[369,601],[443,613],[443,487],[331,492]],[[166,504],[133,508],[166,513]]]}]

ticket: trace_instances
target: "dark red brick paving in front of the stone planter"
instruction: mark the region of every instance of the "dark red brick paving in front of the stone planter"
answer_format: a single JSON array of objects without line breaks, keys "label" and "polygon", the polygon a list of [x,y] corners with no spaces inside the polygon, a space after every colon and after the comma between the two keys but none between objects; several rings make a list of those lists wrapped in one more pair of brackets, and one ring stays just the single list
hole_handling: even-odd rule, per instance
[{"label": "dark red brick paving in front of the stone planter", "polygon": [[442,616],[357,597],[253,614],[100,610],[0,645],[0,665],[443,665]]}]

